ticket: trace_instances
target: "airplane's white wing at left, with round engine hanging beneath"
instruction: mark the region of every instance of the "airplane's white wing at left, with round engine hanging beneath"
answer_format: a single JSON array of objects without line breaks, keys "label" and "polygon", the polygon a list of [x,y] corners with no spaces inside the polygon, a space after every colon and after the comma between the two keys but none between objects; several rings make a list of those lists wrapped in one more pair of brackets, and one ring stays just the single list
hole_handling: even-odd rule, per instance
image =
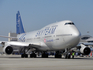
[{"label": "airplane's white wing at left, with round engine hanging beneath", "polygon": [[44,42],[18,42],[18,41],[1,41],[0,42],[3,45],[3,51],[6,54],[11,54],[14,51],[14,48],[35,48],[40,49],[41,47],[46,47],[46,44]]}]

